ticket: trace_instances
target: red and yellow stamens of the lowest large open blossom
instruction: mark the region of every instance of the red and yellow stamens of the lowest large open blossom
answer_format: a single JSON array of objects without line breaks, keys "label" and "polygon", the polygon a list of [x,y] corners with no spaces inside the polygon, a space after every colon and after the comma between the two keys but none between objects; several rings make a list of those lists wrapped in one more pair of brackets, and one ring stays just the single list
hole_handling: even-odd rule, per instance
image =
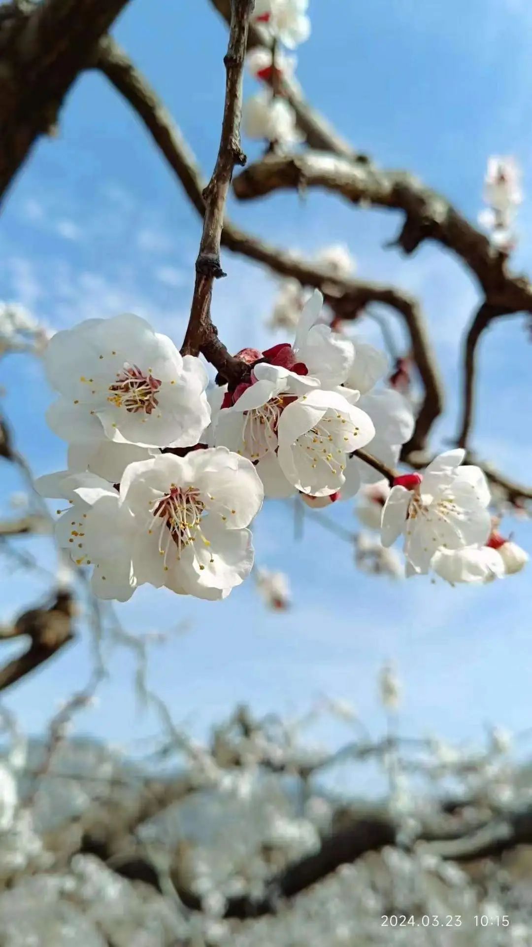
[{"label": "red and yellow stamens of the lowest large open blossom", "polygon": [[[179,559],[181,550],[187,545],[193,545],[197,535],[201,535],[200,523],[205,506],[200,491],[195,487],[186,487],[183,490],[173,483],[170,485],[168,493],[160,500],[151,501],[151,505],[153,504],[151,516],[162,520],[159,534],[159,553],[165,557],[165,568],[167,568],[170,542],[177,546],[177,558]],[[152,532],[152,520],[149,531]],[[201,538],[205,545],[209,545],[204,536],[201,536]]]}]

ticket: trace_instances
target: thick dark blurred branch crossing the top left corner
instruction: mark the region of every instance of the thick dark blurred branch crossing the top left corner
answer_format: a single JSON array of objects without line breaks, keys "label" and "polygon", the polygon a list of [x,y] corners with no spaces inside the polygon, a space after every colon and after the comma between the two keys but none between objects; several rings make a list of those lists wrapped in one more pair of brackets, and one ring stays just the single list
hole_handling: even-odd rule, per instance
[{"label": "thick dark blurred branch crossing the top left corner", "polygon": [[[0,197],[128,0],[44,0],[0,21]],[[10,14],[10,15],[9,15]]]}]

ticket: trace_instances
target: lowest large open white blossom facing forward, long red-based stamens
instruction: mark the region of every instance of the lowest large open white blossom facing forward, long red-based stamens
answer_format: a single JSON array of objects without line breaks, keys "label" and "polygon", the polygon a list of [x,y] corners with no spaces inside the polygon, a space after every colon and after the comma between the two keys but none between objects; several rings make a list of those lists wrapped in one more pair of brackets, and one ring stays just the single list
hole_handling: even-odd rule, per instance
[{"label": "lowest large open white blossom facing forward, long red-based stamens", "polygon": [[224,598],[253,566],[246,527],[262,497],[253,464],[224,447],[130,464],[120,506],[133,520],[137,581]]}]

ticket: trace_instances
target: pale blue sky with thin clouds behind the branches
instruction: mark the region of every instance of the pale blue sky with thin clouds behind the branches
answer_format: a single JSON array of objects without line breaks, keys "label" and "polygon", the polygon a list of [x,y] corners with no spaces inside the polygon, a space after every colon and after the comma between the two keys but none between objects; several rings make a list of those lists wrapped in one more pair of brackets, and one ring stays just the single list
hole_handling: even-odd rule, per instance
[{"label": "pale blue sky with thin clouds behind the branches", "polygon": [[[205,175],[220,134],[225,27],[207,0],[132,0],[115,36],[143,69],[186,134]],[[310,100],[361,151],[383,166],[407,167],[475,218],[490,153],[514,153],[532,181],[532,12],[525,0],[310,0],[312,35],[300,47],[298,76]],[[254,83],[247,81],[247,91]],[[250,156],[257,145],[246,142]],[[532,204],[520,214],[516,267],[530,270]],[[423,246],[401,259],[383,243],[399,217],[353,211],[311,193],[276,194],[257,205],[232,202],[235,220],[269,241],[312,253],[346,242],[363,278],[415,292],[431,325],[448,389],[434,447],[456,429],[459,344],[477,292],[451,255]],[[129,107],[96,75],[83,77],[62,113],[59,138],[42,141],[9,193],[0,221],[0,298],[25,303],[55,328],[88,316],[134,311],[179,345],[200,237],[195,211]],[[213,312],[229,348],[271,338],[264,320],[275,279],[225,254],[228,278]],[[390,324],[400,340],[395,316]],[[523,317],[502,321],[481,348],[474,446],[508,474],[532,477],[527,410],[530,344]],[[45,428],[50,393],[40,366],[2,363],[5,408],[36,474],[63,466],[64,445]],[[2,470],[5,495],[16,476]],[[334,516],[355,526],[350,505]],[[532,530],[510,521],[532,550]],[[266,613],[249,582],[222,604],[142,589],[120,608],[134,632],[168,631],[151,654],[151,683],[176,720],[201,733],[237,701],[257,711],[296,713],[327,692],[352,700],[375,733],[381,663],[396,660],[405,681],[401,727],[455,740],[481,739],[486,721],[530,724],[530,572],[483,589],[430,581],[389,583],[358,573],[347,545],[309,519],[293,541],[290,510],[268,505],[255,529],[257,561],[288,572],[293,609]],[[22,545],[22,543],[21,543]],[[33,545],[43,561],[45,541]],[[46,580],[0,576],[0,620],[44,593]],[[186,634],[175,631],[183,619]],[[39,732],[56,702],[82,686],[90,648],[81,641],[16,688],[6,704]],[[80,715],[85,732],[129,748],[156,722],[135,707],[133,662],[110,659],[100,704]],[[336,724],[320,728],[337,742]],[[364,776],[361,773],[361,786]]]}]

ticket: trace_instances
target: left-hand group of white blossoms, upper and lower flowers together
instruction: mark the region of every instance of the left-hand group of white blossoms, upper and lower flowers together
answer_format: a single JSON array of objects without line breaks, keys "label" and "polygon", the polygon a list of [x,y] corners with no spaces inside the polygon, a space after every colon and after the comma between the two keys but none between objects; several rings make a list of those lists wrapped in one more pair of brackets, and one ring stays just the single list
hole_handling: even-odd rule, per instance
[{"label": "left-hand group of white blossoms, upper and lower flowers together", "polygon": [[210,420],[199,359],[120,315],[58,332],[44,364],[60,394],[47,420],[69,442],[68,469],[37,489],[68,501],[56,536],[94,566],[94,592],[123,601],[150,582],[225,598],[252,568],[247,527],[263,490],[251,461],[226,447],[183,450],[200,447]]}]

